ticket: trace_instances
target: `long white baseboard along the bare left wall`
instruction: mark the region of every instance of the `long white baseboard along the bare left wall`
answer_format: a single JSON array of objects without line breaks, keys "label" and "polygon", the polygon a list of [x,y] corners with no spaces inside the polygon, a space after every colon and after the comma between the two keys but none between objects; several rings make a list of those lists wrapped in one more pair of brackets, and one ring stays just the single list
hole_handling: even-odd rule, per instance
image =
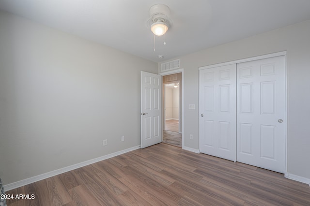
[{"label": "long white baseboard along the bare left wall", "polygon": [[133,151],[133,150],[136,150],[136,149],[139,149],[139,148],[141,148],[140,145],[136,146],[136,147],[127,148],[127,149],[124,149],[124,150],[121,150],[121,151],[118,151],[118,152],[114,152],[114,153],[111,153],[111,154],[108,154],[108,155],[104,155],[102,157],[94,158],[92,160],[88,160],[88,161],[85,161],[85,162],[80,162],[80,163],[77,163],[77,164],[73,164],[71,166],[63,167],[63,168],[58,169],[58,170],[47,172],[47,173],[44,173],[42,175],[30,177],[30,178],[23,179],[23,180],[20,180],[20,181],[17,181],[17,182],[13,182],[13,183],[10,183],[10,184],[7,184],[7,185],[3,185],[3,188],[4,188],[5,191],[10,191],[10,190],[13,190],[13,189],[16,189],[16,188],[19,188],[19,187],[31,184],[33,182],[37,182],[37,181],[40,181],[42,179],[46,179],[48,177],[53,177],[55,175],[60,175],[62,173],[69,172],[71,170],[75,170],[75,169],[78,169],[80,167],[84,167],[86,165],[93,164],[95,162],[100,162],[100,161],[103,161],[103,160],[107,160],[109,158],[112,158],[112,157],[115,157],[115,156],[118,156],[118,155],[130,152],[130,151]]}]

